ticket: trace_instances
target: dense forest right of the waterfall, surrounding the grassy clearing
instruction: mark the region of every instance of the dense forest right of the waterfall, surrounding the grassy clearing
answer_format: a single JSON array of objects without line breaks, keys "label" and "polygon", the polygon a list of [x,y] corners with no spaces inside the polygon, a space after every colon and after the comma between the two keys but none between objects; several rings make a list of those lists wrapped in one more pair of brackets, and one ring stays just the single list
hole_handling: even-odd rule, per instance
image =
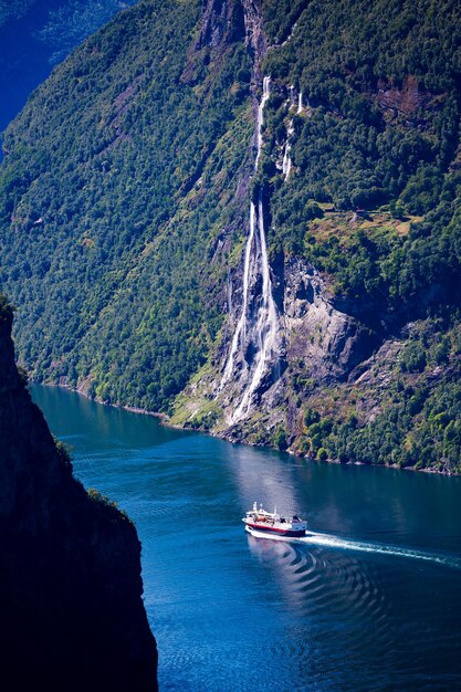
[{"label": "dense forest right of the waterfall, surrounding the grassy clearing", "polygon": [[[272,248],[304,254],[334,275],[337,293],[362,300],[399,301],[449,283],[460,260],[459,3],[290,7],[302,10],[292,36],[265,61],[276,85],[266,118]],[[284,39],[290,12],[279,21],[272,3],[266,12],[273,39]],[[290,84],[303,92],[300,114],[286,101]],[[295,170],[285,182],[274,161],[290,119]],[[310,231],[313,201],[337,211],[389,205],[395,217],[426,219],[408,238],[368,239],[352,229],[325,242]]]}]

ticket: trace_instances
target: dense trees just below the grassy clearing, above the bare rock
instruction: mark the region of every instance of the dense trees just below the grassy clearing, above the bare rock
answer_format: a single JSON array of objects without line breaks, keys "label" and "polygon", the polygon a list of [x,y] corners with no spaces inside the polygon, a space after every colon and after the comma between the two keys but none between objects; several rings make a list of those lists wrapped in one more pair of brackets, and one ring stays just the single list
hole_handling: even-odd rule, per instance
[{"label": "dense trees just below the grassy clearing, above the bare rock", "polygon": [[[452,180],[444,190],[452,188]],[[420,316],[460,301],[461,177],[455,197],[441,202],[408,235],[358,231],[317,243],[306,234],[305,254],[331,273],[337,295],[370,301],[370,306]]]}]

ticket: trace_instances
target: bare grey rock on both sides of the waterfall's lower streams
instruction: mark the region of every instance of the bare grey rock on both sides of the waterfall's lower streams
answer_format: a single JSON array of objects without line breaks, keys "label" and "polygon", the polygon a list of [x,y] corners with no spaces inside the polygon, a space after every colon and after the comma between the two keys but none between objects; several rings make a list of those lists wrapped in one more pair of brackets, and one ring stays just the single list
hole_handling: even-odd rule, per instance
[{"label": "bare grey rock on both sides of the waterfall's lower streams", "polygon": [[[251,284],[251,281],[250,281]],[[301,427],[301,403],[314,391],[349,377],[379,346],[379,337],[357,317],[340,312],[332,303],[322,276],[300,259],[282,260],[276,268],[280,325],[280,359],[269,368],[241,419],[234,416],[242,399],[245,369],[222,388],[232,319],[217,348],[212,367],[187,390],[182,419],[186,427],[211,430],[229,440],[268,444],[271,431],[282,426],[289,436]],[[233,303],[238,302],[240,294]],[[249,326],[249,334],[251,324]],[[245,358],[251,357],[247,353]],[[237,420],[235,420],[237,418]],[[255,433],[255,430],[258,433]],[[266,434],[265,434],[266,433]]]}]

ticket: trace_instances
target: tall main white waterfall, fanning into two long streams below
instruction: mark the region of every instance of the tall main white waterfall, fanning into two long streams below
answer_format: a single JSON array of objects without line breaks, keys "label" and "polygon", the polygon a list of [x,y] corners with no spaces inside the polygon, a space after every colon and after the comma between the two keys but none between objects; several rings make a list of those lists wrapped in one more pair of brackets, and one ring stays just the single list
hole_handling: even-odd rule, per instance
[{"label": "tall main white waterfall, fanning into two long streams below", "polygon": [[[255,172],[258,171],[261,157],[264,106],[270,97],[270,84],[271,77],[264,77],[263,95],[258,108]],[[262,290],[256,321],[255,324],[252,324],[248,314],[250,281],[253,277],[254,283],[254,276],[258,275],[262,279]],[[249,368],[245,363],[245,343],[250,331],[253,332],[251,339],[256,350],[254,361]],[[247,239],[243,264],[242,312],[232,337],[230,353],[219,386],[221,390],[226,382],[231,379],[235,358],[239,356],[239,359],[245,364],[244,374],[248,376],[248,381],[244,384],[242,399],[232,415],[232,422],[237,422],[242,416],[248,413],[251,398],[260,386],[270,360],[277,356],[277,352],[279,319],[275,302],[272,296],[272,282],[264,231],[263,196],[262,190],[260,190],[258,205],[253,200],[250,201],[250,232]]]}]

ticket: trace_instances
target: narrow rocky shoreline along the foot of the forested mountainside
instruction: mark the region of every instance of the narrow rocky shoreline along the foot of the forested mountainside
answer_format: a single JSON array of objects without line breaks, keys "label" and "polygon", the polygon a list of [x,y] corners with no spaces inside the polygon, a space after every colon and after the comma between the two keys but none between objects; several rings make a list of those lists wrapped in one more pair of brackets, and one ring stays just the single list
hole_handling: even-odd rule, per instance
[{"label": "narrow rocky shoreline along the foot of the forested mountainside", "polygon": [[[221,434],[217,434],[214,432],[211,432],[210,430],[202,430],[202,429],[193,429],[191,430],[190,428],[182,428],[181,426],[177,426],[175,423],[169,422],[169,418],[167,416],[167,413],[161,413],[159,411],[149,411],[148,409],[143,409],[140,407],[136,407],[136,406],[124,406],[122,403],[109,403],[108,401],[102,401],[97,398],[93,398],[90,397],[85,391],[82,391],[78,388],[74,388],[74,387],[69,387],[69,385],[57,385],[55,382],[38,382],[34,380],[29,380],[29,384],[32,385],[40,385],[41,387],[53,387],[55,389],[65,389],[66,391],[72,391],[74,394],[77,394],[82,397],[84,397],[85,399],[87,399],[88,401],[94,401],[95,403],[98,403],[99,406],[108,406],[112,407],[114,409],[118,409],[118,410],[123,410],[123,411],[127,411],[128,413],[136,413],[136,415],[140,415],[140,416],[150,416],[151,418],[157,418],[160,426],[165,426],[166,428],[171,428],[171,430],[180,430],[182,432],[200,432],[201,434],[208,434],[212,438],[217,438],[219,440],[223,440],[226,442],[229,442],[230,444],[245,444],[248,447],[260,447],[261,449],[266,449],[273,452],[281,452],[281,450],[276,450],[273,447],[270,447],[269,444],[252,444],[251,442],[245,442],[244,440],[230,440],[229,438],[221,436]],[[400,468],[397,464],[368,464],[365,463],[364,461],[347,461],[346,463],[343,463],[340,461],[338,461],[337,459],[326,459],[324,462],[321,462],[319,459],[312,459],[311,457],[307,455],[302,455],[302,454],[296,454],[295,452],[293,452],[292,450],[287,449],[287,450],[283,450],[283,453],[285,454],[290,454],[291,457],[293,457],[294,459],[300,459],[300,460],[305,460],[305,461],[315,461],[317,463],[332,463],[332,464],[340,464],[344,466],[370,466],[370,468],[380,468],[380,469],[392,469],[395,471],[412,471],[415,473],[428,473],[431,475],[440,475],[440,476],[444,476],[444,478],[460,478],[461,474],[458,473],[450,473],[447,471],[438,471],[436,469],[416,469],[415,466],[404,466]]]}]

